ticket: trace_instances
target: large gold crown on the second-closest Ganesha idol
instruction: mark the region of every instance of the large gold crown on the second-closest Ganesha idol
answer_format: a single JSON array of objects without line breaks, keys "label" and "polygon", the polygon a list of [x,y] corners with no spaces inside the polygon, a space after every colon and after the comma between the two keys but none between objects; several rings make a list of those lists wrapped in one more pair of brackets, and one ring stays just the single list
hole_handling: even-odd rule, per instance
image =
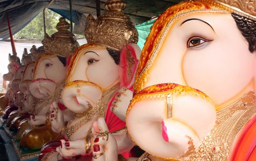
[{"label": "large gold crown on the second-closest Ganesha idol", "polygon": [[136,44],[138,31],[131,19],[122,12],[125,6],[122,0],[108,0],[104,14],[96,20],[89,15],[84,30],[87,42],[104,45],[117,51],[121,51],[128,43]]}]

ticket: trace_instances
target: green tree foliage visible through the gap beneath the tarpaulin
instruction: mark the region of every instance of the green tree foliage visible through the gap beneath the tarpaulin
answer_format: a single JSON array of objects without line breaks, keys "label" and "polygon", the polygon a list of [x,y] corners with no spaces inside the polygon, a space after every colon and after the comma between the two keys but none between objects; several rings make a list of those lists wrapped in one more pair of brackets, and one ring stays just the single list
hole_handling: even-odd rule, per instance
[{"label": "green tree foliage visible through the gap beneath the tarpaulin", "polygon": [[[46,17],[46,32],[48,35],[52,35],[57,32],[55,28],[60,15],[46,9],[45,11]],[[44,27],[43,27],[43,11],[41,11],[26,27],[20,30],[15,38],[24,38],[24,39],[33,39],[33,40],[43,40],[44,38]]]}]

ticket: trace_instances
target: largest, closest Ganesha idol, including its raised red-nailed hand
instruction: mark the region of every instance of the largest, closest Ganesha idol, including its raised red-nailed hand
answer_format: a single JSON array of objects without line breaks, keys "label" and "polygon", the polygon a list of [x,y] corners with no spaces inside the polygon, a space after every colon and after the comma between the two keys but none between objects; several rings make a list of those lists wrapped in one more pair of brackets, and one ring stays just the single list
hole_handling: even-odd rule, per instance
[{"label": "largest, closest Ganesha idol, including its raised red-nailed hand", "polygon": [[[255,6],[189,0],[158,17],[126,115],[130,137],[145,150],[131,161],[256,160]],[[108,136],[94,143],[94,161],[117,161]]]}]

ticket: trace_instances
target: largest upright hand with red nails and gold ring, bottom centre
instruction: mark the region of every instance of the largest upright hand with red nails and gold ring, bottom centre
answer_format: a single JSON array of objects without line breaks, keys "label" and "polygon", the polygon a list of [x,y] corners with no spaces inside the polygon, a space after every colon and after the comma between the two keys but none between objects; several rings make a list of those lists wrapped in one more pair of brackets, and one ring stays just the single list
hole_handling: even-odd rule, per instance
[{"label": "largest upright hand with red nails and gold ring, bottom centre", "polygon": [[93,123],[93,161],[118,161],[117,143],[106,125],[105,119],[100,117]]}]

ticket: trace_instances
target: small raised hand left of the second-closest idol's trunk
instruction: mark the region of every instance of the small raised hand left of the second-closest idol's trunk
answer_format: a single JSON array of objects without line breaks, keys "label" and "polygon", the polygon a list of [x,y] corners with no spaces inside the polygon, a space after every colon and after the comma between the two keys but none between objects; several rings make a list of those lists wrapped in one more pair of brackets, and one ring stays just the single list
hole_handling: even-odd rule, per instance
[{"label": "small raised hand left of the second-closest idol's trunk", "polygon": [[58,108],[58,104],[53,101],[50,105],[50,121],[52,123],[52,131],[60,133],[64,129],[64,115],[61,109]]}]

